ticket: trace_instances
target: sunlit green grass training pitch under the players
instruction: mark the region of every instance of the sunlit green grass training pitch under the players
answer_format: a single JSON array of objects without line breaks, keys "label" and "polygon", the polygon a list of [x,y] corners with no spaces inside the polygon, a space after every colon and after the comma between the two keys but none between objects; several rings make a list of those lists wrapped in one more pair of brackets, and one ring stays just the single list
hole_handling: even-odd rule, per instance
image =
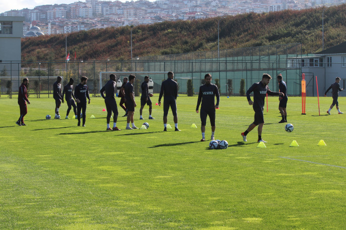
[{"label": "sunlit green grass training pitch under the players", "polygon": [[[287,133],[269,97],[268,143],[259,149],[257,128],[247,143],[240,135],[254,116],[246,98],[221,97],[215,137],[229,147],[209,150],[199,141],[196,96],[178,97],[181,132],[163,132],[159,106],[147,130],[125,130],[119,117],[123,130],[106,132],[101,98],[91,98],[86,127],[45,120],[53,99],[33,98],[20,127],[17,99],[2,96],[0,229],[346,229],[346,113],[326,115],[331,97],[320,98],[321,116],[317,98],[306,101],[301,115],[301,98],[289,98],[295,129]],[[339,103],[346,112],[346,98]],[[174,128],[171,112],[168,120]],[[136,108],[135,124],[144,121]],[[317,146],[321,139],[327,146]],[[299,147],[289,147],[293,140]]]}]

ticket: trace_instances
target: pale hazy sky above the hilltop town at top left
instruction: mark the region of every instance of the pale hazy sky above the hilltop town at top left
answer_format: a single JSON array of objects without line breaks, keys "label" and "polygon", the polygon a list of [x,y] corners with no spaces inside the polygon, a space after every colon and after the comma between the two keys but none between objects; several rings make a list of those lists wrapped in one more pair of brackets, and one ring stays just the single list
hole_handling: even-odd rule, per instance
[{"label": "pale hazy sky above the hilltop town at top left", "polygon": [[[63,3],[70,4],[75,1],[78,1],[78,0],[1,0],[0,13],[3,13],[11,9],[23,9],[23,8],[33,9],[35,6],[38,6],[38,5],[54,5],[54,4],[63,4]],[[80,0],[80,1],[85,2],[85,0]],[[120,1],[125,2],[126,0],[120,0]],[[154,1],[154,0],[150,0],[150,1]]]}]

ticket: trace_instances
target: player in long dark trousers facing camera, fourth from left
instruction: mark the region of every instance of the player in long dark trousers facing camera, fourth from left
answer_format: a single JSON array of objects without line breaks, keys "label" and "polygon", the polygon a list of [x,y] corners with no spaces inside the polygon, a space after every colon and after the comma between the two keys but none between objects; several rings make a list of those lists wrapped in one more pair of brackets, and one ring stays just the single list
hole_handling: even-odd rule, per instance
[{"label": "player in long dark trousers facing camera, fourth from left", "polygon": [[83,126],[86,126],[87,99],[90,104],[89,91],[87,90],[87,77],[81,77],[81,83],[75,87],[75,98],[77,100],[78,126],[81,126],[81,110],[83,113]]}]

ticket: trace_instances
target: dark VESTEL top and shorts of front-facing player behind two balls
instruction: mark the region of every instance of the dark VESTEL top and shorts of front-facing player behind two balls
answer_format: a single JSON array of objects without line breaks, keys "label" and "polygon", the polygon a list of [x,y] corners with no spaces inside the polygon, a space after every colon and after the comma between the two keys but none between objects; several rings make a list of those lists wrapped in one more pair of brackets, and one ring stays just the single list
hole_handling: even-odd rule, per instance
[{"label": "dark VESTEL top and shorts of front-facing player behind two balls", "polygon": [[[215,105],[215,96],[216,96],[216,105]],[[209,115],[210,124],[215,126],[215,107],[218,107],[220,102],[220,96],[218,93],[217,86],[215,84],[204,84],[199,87],[199,94],[197,100],[196,110],[199,109],[201,104],[200,117],[202,125],[207,123],[207,115]]]}]

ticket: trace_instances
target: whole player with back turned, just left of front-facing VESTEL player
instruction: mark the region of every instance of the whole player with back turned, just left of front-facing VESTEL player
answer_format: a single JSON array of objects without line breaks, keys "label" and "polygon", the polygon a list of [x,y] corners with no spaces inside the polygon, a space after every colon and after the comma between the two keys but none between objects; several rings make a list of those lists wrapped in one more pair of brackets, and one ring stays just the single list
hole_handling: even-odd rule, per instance
[{"label": "whole player with back turned, just left of front-facing VESTEL player", "polygon": [[173,72],[168,72],[167,80],[164,80],[161,84],[161,91],[159,95],[159,106],[161,106],[161,98],[164,95],[164,131],[167,131],[167,115],[171,107],[173,113],[173,120],[175,131],[178,129],[178,116],[176,115],[176,97],[178,96],[178,84],[173,80]]}]

